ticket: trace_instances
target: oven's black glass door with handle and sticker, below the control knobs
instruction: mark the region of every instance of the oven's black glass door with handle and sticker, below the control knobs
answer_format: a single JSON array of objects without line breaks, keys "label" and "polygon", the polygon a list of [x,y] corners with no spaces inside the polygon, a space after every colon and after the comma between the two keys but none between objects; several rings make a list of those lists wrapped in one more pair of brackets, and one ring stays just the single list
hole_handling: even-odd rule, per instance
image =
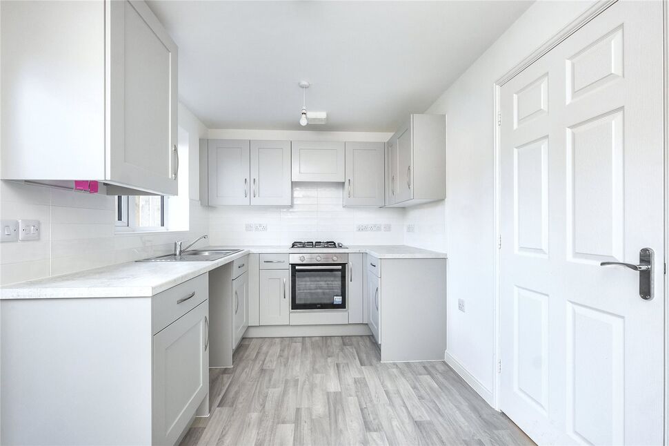
[{"label": "oven's black glass door with handle and sticker, below the control knobs", "polygon": [[291,310],[346,309],[346,264],[290,265]]}]

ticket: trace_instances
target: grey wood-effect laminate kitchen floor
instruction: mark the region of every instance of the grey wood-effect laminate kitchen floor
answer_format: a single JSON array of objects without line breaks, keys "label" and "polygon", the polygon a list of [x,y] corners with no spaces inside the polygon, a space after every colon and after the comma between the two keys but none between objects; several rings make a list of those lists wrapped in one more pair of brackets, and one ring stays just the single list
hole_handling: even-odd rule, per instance
[{"label": "grey wood-effect laminate kitchen floor", "polygon": [[379,361],[368,336],[243,339],[181,445],[533,445],[445,362]]}]

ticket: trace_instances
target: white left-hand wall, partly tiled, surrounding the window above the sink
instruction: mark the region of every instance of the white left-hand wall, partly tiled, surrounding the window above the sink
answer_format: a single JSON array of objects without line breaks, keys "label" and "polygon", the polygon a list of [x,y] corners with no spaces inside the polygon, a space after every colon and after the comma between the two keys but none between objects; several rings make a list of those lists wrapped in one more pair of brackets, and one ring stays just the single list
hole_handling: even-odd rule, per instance
[{"label": "white left-hand wall, partly tiled, surrounding the window above the sink", "polygon": [[172,250],[174,240],[208,231],[207,209],[197,197],[199,138],[206,128],[179,104],[179,126],[188,133],[190,231],[114,233],[114,197],[56,188],[0,182],[0,218],[37,219],[41,236],[34,242],[0,244],[0,284],[72,273],[128,262]]}]

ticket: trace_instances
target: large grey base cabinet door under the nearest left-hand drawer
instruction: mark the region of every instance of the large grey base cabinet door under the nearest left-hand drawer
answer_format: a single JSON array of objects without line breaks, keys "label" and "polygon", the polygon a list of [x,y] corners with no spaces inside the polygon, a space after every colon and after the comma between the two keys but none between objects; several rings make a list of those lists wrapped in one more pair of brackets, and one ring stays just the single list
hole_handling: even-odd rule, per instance
[{"label": "large grey base cabinet door under the nearest left-hand drawer", "polygon": [[209,391],[209,301],[153,336],[153,444],[174,445]]}]

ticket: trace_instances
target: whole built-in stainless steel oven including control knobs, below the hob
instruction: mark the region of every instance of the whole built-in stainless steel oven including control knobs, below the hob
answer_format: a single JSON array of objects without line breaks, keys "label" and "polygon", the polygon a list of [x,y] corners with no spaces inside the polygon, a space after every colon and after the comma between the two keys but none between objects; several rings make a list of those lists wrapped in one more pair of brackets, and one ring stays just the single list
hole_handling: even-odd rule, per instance
[{"label": "whole built-in stainless steel oven including control knobs, below the hob", "polygon": [[291,254],[289,261],[291,311],[346,310],[348,254]]}]

